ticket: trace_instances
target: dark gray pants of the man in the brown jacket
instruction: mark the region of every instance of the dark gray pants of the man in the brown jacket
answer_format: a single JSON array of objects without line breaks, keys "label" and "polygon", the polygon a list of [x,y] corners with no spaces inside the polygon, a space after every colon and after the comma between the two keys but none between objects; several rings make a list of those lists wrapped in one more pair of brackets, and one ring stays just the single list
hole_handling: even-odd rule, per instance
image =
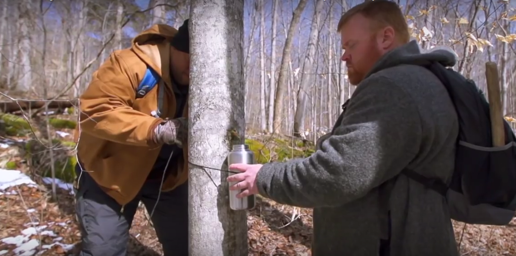
[{"label": "dark gray pants of the man in the brown jacket", "polygon": [[[75,210],[82,234],[82,250],[78,255],[126,256],[129,229],[138,203],[141,200],[151,214],[160,182],[147,181],[121,213],[120,204],[83,172],[75,194]],[[188,255],[188,182],[161,193],[152,223],[165,256]]]}]

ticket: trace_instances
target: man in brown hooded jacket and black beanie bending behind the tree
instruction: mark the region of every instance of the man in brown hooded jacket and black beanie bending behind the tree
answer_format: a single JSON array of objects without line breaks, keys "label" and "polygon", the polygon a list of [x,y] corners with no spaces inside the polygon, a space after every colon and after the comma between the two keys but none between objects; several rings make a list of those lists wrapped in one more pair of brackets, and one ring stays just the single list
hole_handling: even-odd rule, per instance
[{"label": "man in brown hooded jacket and black beanie bending behind the tree", "polygon": [[[137,93],[148,67],[158,83]],[[154,25],[116,50],[80,96],[76,214],[80,256],[125,256],[140,201],[165,256],[188,254],[188,20]]]}]

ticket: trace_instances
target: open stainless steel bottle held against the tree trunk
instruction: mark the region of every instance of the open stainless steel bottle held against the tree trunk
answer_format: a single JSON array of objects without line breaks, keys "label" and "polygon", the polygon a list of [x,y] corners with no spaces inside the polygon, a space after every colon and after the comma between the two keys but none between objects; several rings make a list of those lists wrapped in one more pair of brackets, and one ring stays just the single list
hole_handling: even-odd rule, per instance
[{"label": "open stainless steel bottle held against the tree trunk", "polygon": [[[233,150],[228,155],[228,166],[231,164],[254,164],[254,153],[249,149],[249,145],[238,144],[233,145]],[[231,174],[230,174],[231,175]],[[229,182],[232,186],[236,182]],[[246,196],[244,198],[236,198],[240,191],[229,191],[229,207],[231,210],[251,210],[255,206],[255,196]]]}]

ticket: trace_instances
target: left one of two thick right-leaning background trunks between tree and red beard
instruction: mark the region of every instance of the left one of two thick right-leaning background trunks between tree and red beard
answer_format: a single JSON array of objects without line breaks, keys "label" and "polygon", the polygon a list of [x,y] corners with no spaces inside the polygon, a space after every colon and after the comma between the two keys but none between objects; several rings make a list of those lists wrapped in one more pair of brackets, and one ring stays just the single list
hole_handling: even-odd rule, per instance
[{"label": "left one of two thick right-leaning background trunks between tree and red beard", "polygon": [[299,4],[294,10],[294,14],[292,15],[291,24],[288,27],[287,38],[285,40],[285,46],[283,47],[283,56],[281,57],[281,66],[280,66],[280,75],[278,76],[278,87],[276,88],[276,98],[274,100],[274,123],[272,129],[276,132],[281,132],[282,126],[282,113],[283,113],[283,95],[285,94],[287,87],[287,68],[288,63],[291,60],[291,48],[292,48],[292,40],[294,38],[294,32],[296,27],[299,25],[299,20],[301,19],[301,13],[304,10],[304,7],[307,5],[307,0],[299,0]]}]

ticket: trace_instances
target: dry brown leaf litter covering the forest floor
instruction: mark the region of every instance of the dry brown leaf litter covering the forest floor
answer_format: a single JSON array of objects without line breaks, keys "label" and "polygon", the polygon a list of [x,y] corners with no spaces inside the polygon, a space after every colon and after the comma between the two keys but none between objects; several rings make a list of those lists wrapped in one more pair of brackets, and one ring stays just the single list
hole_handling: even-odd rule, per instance
[{"label": "dry brown leaf litter covering the forest floor", "polygon": [[[34,254],[43,256],[74,255],[80,248],[79,231],[73,213],[73,197],[60,190],[53,202],[44,189],[19,185],[0,195],[0,238],[22,235],[22,230],[36,228],[29,238],[39,243]],[[258,198],[248,214],[249,255],[311,255],[312,211],[283,206]],[[43,226],[42,228],[39,228]],[[506,227],[455,223],[462,255],[516,255],[516,221]],[[463,235],[461,235],[463,234]],[[461,240],[462,237],[462,240]],[[58,244],[56,244],[58,242]],[[54,244],[54,245],[53,245]],[[53,245],[48,248],[49,245]],[[70,249],[67,245],[75,245]],[[0,242],[6,256],[16,255],[14,245]],[[130,255],[158,256],[162,251],[153,228],[140,209],[131,229]]]}]

